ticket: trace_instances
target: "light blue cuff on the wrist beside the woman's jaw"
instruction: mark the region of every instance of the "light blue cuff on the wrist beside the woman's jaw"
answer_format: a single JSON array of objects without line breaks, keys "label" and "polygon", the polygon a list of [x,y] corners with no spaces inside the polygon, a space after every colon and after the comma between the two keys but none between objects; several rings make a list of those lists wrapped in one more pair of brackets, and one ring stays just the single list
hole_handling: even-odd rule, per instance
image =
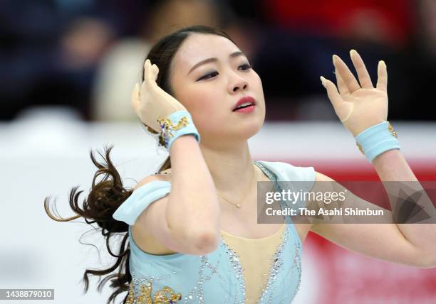
[{"label": "light blue cuff on the wrist beside the woman's jaw", "polygon": [[[198,143],[200,141],[200,136],[197,131],[197,128],[194,126],[194,122],[192,121],[192,116],[190,112],[187,112],[185,110],[176,111],[170,116],[167,117],[170,119],[173,126],[177,126],[179,121],[185,124],[185,126],[182,126],[180,129],[172,129],[170,127],[170,130],[167,130],[167,132],[163,132],[164,139],[165,139],[165,146],[168,149],[168,151],[171,151],[171,145],[174,143],[176,139],[178,139],[180,136],[192,134],[194,135],[195,139],[197,139]],[[161,129],[165,129],[165,126],[163,124],[160,125]]]}]

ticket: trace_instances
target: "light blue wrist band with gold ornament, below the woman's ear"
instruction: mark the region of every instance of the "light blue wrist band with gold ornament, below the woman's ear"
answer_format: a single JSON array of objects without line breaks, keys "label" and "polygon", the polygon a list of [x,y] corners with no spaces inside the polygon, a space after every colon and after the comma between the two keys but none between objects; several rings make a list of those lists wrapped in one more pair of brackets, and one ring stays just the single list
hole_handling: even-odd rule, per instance
[{"label": "light blue wrist band with gold ornament, below the woman's ear", "polygon": [[192,122],[192,116],[185,110],[176,111],[165,118],[157,119],[160,136],[165,141],[165,148],[171,151],[172,143],[182,135],[192,134],[197,141],[200,136]]}]

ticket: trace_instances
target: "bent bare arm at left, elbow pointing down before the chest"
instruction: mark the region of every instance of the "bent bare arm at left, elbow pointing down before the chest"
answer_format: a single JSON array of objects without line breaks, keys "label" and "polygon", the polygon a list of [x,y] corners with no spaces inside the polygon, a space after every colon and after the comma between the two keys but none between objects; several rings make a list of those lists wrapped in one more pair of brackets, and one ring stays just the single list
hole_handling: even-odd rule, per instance
[{"label": "bent bare arm at left, elbow pointing down before the chest", "polygon": [[[153,202],[135,222],[172,251],[207,254],[217,248],[220,210],[212,176],[194,136],[181,136],[171,146],[169,195]],[[136,188],[155,180],[150,176]]]}]

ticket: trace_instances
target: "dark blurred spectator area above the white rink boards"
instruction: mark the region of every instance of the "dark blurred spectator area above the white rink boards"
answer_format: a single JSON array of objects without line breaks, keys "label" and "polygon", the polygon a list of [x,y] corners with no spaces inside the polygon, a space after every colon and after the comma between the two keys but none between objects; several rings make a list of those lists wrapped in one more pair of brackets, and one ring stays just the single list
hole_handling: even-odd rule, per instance
[{"label": "dark blurred spectator area above the white rink boards", "polygon": [[319,76],[358,50],[377,81],[388,65],[391,120],[435,121],[434,0],[4,0],[0,120],[38,106],[85,121],[133,121],[130,91],[152,43],[177,28],[219,26],[261,76],[266,119],[337,119]]}]

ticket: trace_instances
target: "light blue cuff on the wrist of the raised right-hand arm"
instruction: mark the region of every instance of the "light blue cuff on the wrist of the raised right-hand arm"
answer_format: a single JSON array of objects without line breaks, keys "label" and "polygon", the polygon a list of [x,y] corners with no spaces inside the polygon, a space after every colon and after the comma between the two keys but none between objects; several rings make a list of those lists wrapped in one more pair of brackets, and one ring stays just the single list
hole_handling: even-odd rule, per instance
[{"label": "light blue cuff on the wrist of the raised right-hand arm", "polygon": [[390,122],[383,121],[360,132],[355,136],[355,143],[368,161],[373,163],[374,158],[381,153],[400,149],[397,137],[397,132]]}]

